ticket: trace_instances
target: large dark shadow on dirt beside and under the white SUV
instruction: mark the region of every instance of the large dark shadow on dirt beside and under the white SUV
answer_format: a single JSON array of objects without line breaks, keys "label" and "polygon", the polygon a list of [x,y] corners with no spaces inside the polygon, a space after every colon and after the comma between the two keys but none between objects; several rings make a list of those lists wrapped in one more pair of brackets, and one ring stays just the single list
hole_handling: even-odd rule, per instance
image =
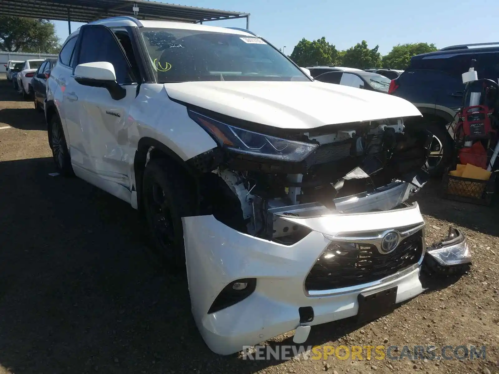
[{"label": "large dark shadow on dirt beside and under the white SUV", "polygon": [[[194,324],[185,277],[151,261],[137,212],[52,172],[51,158],[0,163],[0,366],[249,374],[280,363],[211,352]],[[314,327],[304,346],[358,328],[353,318]],[[292,346],[292,338],[278,344]]]}]

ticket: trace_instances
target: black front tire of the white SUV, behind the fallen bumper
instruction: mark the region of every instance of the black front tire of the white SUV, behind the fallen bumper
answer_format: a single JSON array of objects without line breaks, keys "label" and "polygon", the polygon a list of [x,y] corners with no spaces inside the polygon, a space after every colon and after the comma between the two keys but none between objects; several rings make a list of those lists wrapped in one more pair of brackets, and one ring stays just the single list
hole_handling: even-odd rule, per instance
[{"label": "black front tire of the white SUV, behind the fallen bumper", "polygon": [[167,267],[184,270],[182,217],[195,214],[193,185],[177,165],[153,159],[144,171],[142,202],[155,254]]}]

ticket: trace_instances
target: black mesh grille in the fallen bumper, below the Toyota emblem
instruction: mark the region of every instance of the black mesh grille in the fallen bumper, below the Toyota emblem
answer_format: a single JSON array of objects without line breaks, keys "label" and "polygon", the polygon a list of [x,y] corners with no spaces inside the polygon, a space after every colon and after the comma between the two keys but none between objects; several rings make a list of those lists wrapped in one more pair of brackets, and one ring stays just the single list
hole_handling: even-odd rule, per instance
[{"label": "black mesh grille in the fallen bumper, below the Toyota emblem", "polygon": [[423,231],[402,240],[389,254],[374,244],[331,242],[305,279],[307,291],[331,290],[377,281],[419,261]]}]

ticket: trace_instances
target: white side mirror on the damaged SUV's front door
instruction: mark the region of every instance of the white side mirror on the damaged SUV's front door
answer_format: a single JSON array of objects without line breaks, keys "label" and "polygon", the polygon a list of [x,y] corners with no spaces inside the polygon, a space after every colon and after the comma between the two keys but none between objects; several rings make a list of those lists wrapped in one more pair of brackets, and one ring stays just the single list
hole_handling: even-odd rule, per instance
[{"label": "white side mirror on the damaged SUV's front door", "polygon": [[116,82],[114,66],[110,62],[87,62],[77,65],[74,69],[74,80],[83,86],[105,88],[114,100],[121,100],[126,95],[126,90]]}]

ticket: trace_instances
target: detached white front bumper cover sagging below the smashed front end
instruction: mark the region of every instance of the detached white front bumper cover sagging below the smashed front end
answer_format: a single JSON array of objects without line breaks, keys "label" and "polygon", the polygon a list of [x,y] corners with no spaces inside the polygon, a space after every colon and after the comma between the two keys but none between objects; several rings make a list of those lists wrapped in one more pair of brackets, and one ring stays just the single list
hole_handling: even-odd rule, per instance
[{"label": "detached white front bumper cover sagging below the smashed front end", "polygon": [[[203,339],[215,353],[233,354],[299,326],[355,316],[361,292],[397,286],[396,303],[400,303],[424,291],[419,279],[426,253],[424,235],[421,256],[394,274],[330,290],[309,292],[305,287],[312,266],[334,240],[397,228],[399,232],[407,227],[423,229],[416,203],[388,211],[286,219],[308,227],[310,233],[293,245],[283,245],[236,231],[212,215],[183,218],[192,313]],[[248,297],[209,313],[227,285],[248,278],[256,279]],[[300,323],[300,307],[313,309],[312,321]]]}]

